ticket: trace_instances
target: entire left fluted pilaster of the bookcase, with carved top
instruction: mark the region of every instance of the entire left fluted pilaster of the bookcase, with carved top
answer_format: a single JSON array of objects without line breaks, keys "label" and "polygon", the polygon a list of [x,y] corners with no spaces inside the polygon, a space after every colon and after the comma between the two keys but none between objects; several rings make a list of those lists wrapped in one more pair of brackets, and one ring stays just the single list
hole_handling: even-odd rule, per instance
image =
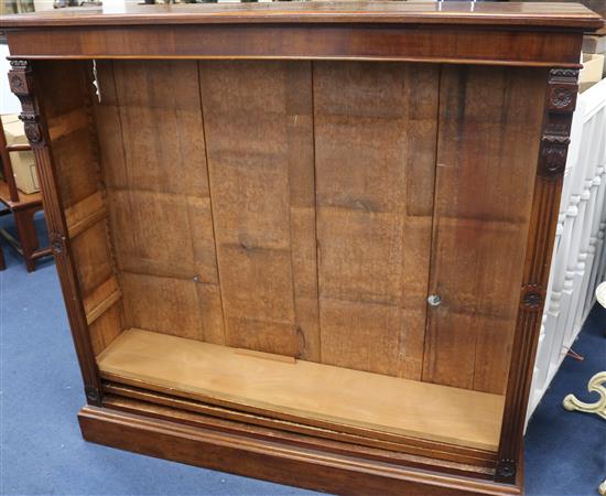
[{"label": "entire left fluted pilaster of the bookcase, with carved top", "polygon": [[25,136],[34,153],[48,228],[48,241],[56,261],[69,327],[84,379],[86,399],[90,405],[100,405],[100,378],[86,323],[76,267],[71,252],[67,225],[51,153],[51,140],[44,122],[43,104],[35,93],[35,88],[40,84],[35,67],[32,67],[28,61],[12,61],[9,84],[12,93],[21,100],[20,119],[23,121]]}]

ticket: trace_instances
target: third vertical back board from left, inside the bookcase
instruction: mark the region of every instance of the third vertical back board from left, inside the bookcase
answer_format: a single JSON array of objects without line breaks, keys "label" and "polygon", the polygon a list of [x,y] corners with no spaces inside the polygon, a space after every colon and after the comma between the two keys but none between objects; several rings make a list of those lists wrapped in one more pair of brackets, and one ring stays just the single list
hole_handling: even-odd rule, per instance
[{"label": "third vertical back board from left, inside the bookcase", "polygon": [[314,64],[322,359],[420,379],[440,67]]}]

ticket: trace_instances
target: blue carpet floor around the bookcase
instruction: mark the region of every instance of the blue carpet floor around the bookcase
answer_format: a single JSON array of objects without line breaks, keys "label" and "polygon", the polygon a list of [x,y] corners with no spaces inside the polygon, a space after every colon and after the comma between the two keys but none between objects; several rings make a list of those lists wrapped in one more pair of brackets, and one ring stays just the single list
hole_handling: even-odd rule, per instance
[{"label": "blue carpet floor around the bookcase", "polygon": [[[43,230],[43,219],[39,218]],[[10,218],[0,225],[12,227]],[[3,242],[3,241],[0,241]],[[219,472],[126,453],[82,440],[85,399],[51,259],[28,273],[3,244],[0,272],[1,495],[304,495]],[[595,309],[529,425],[527,494],[596,495],[606,477],[606,422],[565,412],[562,398],[594,400],[587,379],[606,369],[606,311]]]}]

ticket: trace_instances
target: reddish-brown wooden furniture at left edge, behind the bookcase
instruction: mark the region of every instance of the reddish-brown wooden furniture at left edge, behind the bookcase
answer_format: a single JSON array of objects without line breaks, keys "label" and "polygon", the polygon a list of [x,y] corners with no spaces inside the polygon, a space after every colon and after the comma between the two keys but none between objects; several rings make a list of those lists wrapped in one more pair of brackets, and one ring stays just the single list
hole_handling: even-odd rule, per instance
[{"label": "reddish-brown wooden furniture at left edge, behind the bookcase", "polygon": [[0,211],[0,215],[12,214],[18,238],[14,238],[6,229],[0,229],[0,236],[23,257],[28,272],[35,270],[35,261],[39,258],[52,254],[50,247],[40,248],[35,231],[34,214],[42,209],[42,194],[25,194],[18,190],[14,182],[10,153],[30,149],[29,144],[7,144],[2,120],[0,119],[0,160],[2,162],[0,203],[6,207]]}]

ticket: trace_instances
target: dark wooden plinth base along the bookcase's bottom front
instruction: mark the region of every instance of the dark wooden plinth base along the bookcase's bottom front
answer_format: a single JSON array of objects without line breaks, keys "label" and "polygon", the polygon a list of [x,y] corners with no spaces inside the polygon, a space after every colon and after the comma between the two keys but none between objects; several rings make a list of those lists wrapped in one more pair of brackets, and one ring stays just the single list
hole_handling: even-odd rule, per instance
[{"label": "dark wooden plinth base along the bookcase's bottom front", "polygon": [[283,441],[85,407],[84,439],[190,465],[336,494],[519,495],[517,486],[389,464]]}]

